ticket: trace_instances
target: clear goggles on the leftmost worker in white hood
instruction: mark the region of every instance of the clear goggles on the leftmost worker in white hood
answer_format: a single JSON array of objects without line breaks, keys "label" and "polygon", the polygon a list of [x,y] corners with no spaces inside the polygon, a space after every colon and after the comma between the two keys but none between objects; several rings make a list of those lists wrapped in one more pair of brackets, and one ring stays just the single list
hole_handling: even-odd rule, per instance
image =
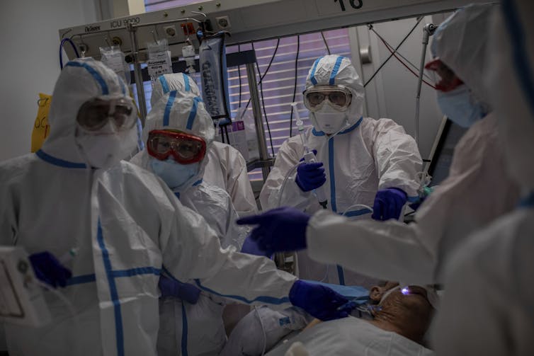
[{"label": "clear goggles on the leftmost worker in white hood", "polygon": [[113,123],[115,130],[124,131],[135,125],[136,114],[132,98],[102,96],[83,103],[76,115],[76,122],[89,132],[101,130],[108,122]]}]

